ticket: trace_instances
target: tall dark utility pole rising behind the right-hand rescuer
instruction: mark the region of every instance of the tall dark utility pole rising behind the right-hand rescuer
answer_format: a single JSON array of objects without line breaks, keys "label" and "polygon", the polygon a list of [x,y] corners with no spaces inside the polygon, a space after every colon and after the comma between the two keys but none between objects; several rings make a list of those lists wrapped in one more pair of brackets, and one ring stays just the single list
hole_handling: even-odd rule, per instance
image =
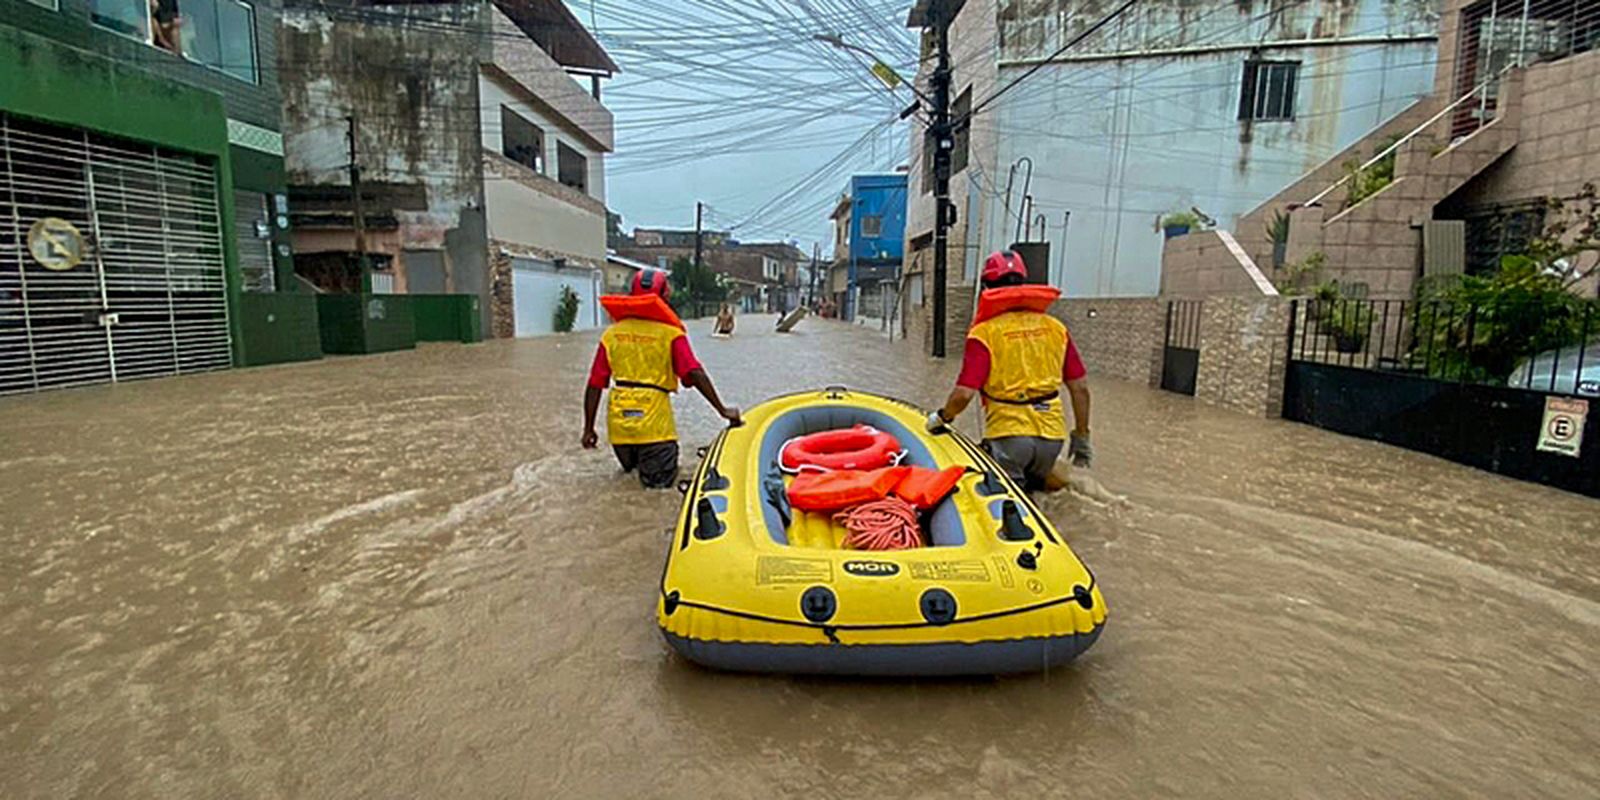
[{"label": "tall dark utility pole rising behind the right-hand rescuer", "polygon": [[933,90],[933,120],[928,123],[928,142],[933,146],[933,357],[944,358],[946,285],[949,282],[947,253],[950,226],[955,222],[955,206],[950,205],[950,155],[955,149],[955,125],[950,122],[950,22],[965,0],[917,0],[909,27],[933,32],[936,61],[928,88]]}]

